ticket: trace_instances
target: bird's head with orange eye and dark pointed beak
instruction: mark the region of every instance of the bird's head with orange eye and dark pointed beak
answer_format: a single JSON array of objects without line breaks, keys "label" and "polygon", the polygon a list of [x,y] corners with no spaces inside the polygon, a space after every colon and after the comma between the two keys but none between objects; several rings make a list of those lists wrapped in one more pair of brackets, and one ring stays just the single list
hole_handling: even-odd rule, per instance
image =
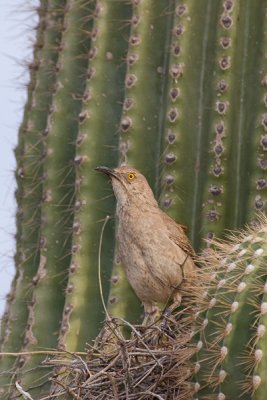
[{"label": "bird's head with orange eye and dark pointed beak", "polygon": [[157,205],[153,192],[147,183],[146,178],[137,169],[129,166],[118,168],[96,167],[111,178],[112,187],[117,198],[118,206],[127,202],[139,202],[140,205]]}]

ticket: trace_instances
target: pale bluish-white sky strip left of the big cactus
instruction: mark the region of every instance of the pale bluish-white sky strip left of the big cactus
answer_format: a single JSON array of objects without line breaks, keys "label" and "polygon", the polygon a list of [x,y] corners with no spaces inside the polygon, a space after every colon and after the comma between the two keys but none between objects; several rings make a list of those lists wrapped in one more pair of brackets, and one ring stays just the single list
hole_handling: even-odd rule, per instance
[{"label": "pale bluish-white sky strip left of the big cactus", "polygon": [[[35,4],[37,1],[35,1]],[[14,275],[15,159],[32,56],[34,0],[0,0],[0,315]]]}]

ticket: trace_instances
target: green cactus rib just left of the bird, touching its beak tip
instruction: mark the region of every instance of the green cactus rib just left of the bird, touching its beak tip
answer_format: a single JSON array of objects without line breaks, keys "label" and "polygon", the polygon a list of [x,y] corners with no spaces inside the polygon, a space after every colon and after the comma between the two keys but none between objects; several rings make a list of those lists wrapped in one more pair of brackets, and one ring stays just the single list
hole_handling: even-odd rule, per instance
[{"label": "green cactus rib just left of the bird, touching its beak tip", "polygon": [[[76,140],[76,203],[72,260],[67,286],[60,344],[69,351],[83,350],[95,338],[105,319],[98,282],[100,232],[115,202],[107,180],[94,168],[118,163],[118,125],[131,7],[128,2],[97,1],[87,82]],[[107,301],[114,257],[114,218],[108,222],[101,253],[102,284]]]}]

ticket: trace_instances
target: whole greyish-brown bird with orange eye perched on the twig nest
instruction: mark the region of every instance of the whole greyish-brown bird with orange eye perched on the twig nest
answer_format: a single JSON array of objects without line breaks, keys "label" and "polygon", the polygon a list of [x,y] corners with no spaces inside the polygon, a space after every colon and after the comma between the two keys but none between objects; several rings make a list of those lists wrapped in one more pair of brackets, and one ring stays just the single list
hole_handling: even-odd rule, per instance
[{"label": "whole greyish-brown bird with orange eye perched on the twig nest", "polygon": [[97,167],[110,176],[117,198],[118,250],[126,276],[153,314],[157,302],[181,302],[181,286],[194,277],[194,251],[178,225],[158,206],[146,178],[135,168]]}]

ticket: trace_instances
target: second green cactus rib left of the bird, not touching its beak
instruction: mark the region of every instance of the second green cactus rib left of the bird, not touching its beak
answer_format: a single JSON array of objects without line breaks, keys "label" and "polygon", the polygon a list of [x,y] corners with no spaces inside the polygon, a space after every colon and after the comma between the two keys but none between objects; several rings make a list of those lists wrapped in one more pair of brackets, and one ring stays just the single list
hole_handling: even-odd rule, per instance
[{"label": "second green cactus rib left of the bird, not touching its beak", "polygon": [[[84,91],[84,77],[89,51],[89,34],[93,5],[88,1],[68,1],[64,9],[64,26],[59,46],[56,85],[43,137],[43,192],[41,205],[40,261],[34,277],[29,305],[24,350],[47,349],[57,345],[64,307],[64,290],[71,257],[74,213],[75,140],[78,116]],[[78,63],[73,60],[79,59]],[[21,358],[23,384],[38,385],[42,370],[35,369],[42,357]],[[47,380],[47,378],[44,378]],[[39,392],[38,392],[39,390]]]}]

